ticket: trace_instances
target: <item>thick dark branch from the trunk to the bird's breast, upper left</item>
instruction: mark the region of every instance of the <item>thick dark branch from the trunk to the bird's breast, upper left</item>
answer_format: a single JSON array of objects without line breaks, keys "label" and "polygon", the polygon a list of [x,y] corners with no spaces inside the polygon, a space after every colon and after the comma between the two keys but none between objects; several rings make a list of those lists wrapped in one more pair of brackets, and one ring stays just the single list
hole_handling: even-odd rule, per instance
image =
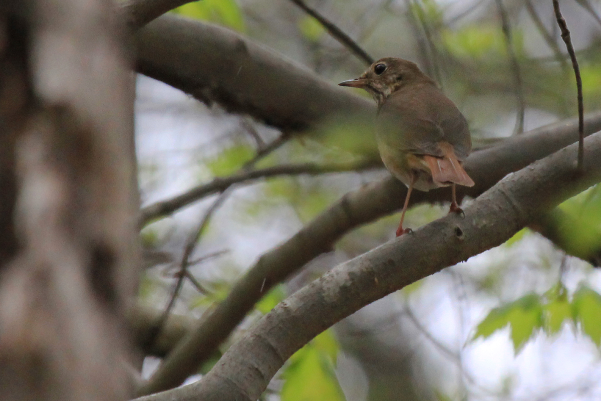
[{"label": "thick dark branch from the trunk to the bird's breast, upper left", "polygon": [[376,115],[371,100],[227,28],[165,15],[135,38],[138,72],[284,131],[337,116],[369,124]]}]

